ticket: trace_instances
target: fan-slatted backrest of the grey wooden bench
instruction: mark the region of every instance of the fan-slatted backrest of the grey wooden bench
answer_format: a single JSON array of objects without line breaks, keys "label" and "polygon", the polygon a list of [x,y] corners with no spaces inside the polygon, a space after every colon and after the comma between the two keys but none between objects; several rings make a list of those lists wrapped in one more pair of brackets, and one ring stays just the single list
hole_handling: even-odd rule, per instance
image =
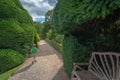
[{"label": "fan-slatted backrest of the grey wooden bench", "polygon": [[120,80],[120,53],[94,52],[88,69],[101,80]]}]

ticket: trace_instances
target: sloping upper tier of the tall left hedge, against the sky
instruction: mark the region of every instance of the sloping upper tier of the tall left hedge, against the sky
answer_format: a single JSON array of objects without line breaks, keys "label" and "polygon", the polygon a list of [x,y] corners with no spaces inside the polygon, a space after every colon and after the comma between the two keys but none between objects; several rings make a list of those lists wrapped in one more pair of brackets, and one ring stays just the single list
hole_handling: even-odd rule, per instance
[{"label": "sloping upper tier of the tall left hedge, against the sky", "polygon": [[19,6],[17,6],[15,2],[12,0],[0,1],[0,19],[12,18],[20,23],[33,25],[32,17],[28,14],[28,12],[25,9],[21,9]]}]

